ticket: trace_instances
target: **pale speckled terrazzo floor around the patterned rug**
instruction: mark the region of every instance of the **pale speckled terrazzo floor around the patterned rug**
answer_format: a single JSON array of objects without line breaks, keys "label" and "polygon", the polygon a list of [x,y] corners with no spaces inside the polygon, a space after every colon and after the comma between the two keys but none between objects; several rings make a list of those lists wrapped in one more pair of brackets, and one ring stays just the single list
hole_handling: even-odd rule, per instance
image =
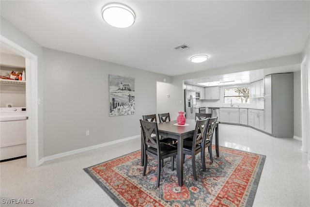
[{"label": "pale speckled terrazzo floor around the patterned rug", "polygon": [[[310,171],[300,141],[274,138],[252,128],[233,125],[220,125],[219,133],[221,146],[266,155],[253,206],[310,206]],[[26,167],[26,158],[2,162],[1,198],[33,198],[34,203],[27,205],[31,207],[114,207],[115,203],[83,168],[139,148],[137,139],[50,160],[30,169]],[[0,206],[5,206],[2,200]]]}]

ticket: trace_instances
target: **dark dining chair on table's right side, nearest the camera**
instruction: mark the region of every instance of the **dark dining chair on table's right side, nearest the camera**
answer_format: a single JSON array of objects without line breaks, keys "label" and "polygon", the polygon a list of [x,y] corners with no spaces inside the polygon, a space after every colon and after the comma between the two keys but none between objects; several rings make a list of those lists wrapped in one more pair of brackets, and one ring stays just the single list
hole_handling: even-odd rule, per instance
[{"label": "dark dining chair on table's right side, nearest the camera", "polygon": [[[192,169],[193,169],[193,175],[194,179],[197,180],[196,175],[196,155],[198,153],[202,152],[203,149],[203,139],[206,132],[206,129],[208,127],[209,118],[203,119],[203,120],[197,120],[196,121],[196,127],[194,131],[194,135],[191,141],[188,141],[187,139],[183,142],[183,154],[185,155],[191,155],[192,160]],[[202,169],[205,168],[205,163],[202,162]]]}]

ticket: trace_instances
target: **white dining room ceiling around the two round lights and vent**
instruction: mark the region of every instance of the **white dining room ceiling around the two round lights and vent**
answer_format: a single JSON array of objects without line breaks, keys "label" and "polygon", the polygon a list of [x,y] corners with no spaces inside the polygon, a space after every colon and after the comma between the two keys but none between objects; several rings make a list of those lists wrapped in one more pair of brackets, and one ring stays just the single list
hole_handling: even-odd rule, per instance
[{"label": "white dining room ceiling around the two round lights and vent", "polygon": [[43,47],[171,76],[300,53],[310,31],[310,1],[118,0],[136,13],[126,29],[103,21],[110,2],[1,0],[0,14]]}]

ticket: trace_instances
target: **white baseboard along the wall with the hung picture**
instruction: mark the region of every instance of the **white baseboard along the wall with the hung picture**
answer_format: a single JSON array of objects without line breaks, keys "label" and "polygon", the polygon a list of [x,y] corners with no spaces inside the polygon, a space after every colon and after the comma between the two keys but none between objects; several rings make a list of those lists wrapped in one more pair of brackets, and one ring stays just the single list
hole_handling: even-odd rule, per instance
[{"label": "white baseboard along the wall with the hung picture", "polygon": [[75,150],[72,150],[72,151],[69,151],[69,152],[63,152],[63,153],[60,153],[60,154],[47,156],[47,157],[44,157],[44,158],[39,160],[39,165],[43,164],[43,162],[45,162],[47,160],[62,158],[62,157],[69,156],[69,155],[74,155],[74,154],[77,154],[77,153],[80,153],[80,152],[85,152],[85,151],[88,151],[88,150],[92,150],[92,149],[96,149],[96,148],[112,145],[112,144],[115,144],[115,143],[122,143],[122,142],[125,142],[125,141],[128,141],[128,140],[134,140],[134,139],[138,139],[138,138],[140,139],[141,135],[127,137],[127,138],[120,139],[120,140],[114,140],[114,141],[111,141],[111,142],[108,142],[108,143],[101,143],[101,144],[97,144],[97,145],[93,145],[93,146],[89,146],[89,147],[75,149]]}]

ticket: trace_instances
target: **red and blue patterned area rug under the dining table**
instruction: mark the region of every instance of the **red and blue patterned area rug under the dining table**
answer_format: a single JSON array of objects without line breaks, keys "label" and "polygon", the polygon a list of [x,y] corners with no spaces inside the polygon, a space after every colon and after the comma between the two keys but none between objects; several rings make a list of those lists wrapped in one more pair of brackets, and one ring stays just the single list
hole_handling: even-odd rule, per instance
[{"label": "red and blue patterned area rug under the dining table", "polygon": [[[216,155],[214,146],[213,151]],[[170,158],[164,160],[159,188],[156,187],[155,159],[149,158],[146,175],[142,176],[140,151],[84,171],[118,206],[252,206],[266,156],[226,147],[220,147],[219,151],[219,158],[214,156],[212,164],[206,163],[206,172],[202,172],[200,154],[196,156],[197,181],[192,175],[191,159],[186,156],[182,187],[178,186],[176,170],[171,171]],[[206,159],[209,159],[208,154]]]}]

